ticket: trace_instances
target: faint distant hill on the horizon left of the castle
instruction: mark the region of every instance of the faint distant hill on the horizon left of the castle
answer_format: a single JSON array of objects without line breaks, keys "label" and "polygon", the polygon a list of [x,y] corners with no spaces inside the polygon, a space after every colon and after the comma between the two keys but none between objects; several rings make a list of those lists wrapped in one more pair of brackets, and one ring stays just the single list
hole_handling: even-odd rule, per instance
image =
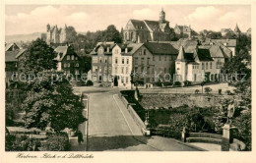
[{"label": "faint distant hill on the horizon left of the castle", "polygon": [[35,40],[36,38],[41,37],[42,32],[33,32],[30,34],[13,34],[13,35],[5,35],[5,42],[31,42],[32,40]]}]

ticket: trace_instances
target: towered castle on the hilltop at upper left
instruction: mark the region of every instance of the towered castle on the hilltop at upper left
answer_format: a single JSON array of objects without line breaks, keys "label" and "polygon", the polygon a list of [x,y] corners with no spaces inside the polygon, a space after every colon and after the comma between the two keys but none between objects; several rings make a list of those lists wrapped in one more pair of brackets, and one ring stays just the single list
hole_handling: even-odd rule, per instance
[{"label": "towered castle on the hilltop at upper left", "polygon": [[65,43],[67,38],[67,26],[59,28],[57,25],[50,27],[47,25],[46,42],[50,43]]}]

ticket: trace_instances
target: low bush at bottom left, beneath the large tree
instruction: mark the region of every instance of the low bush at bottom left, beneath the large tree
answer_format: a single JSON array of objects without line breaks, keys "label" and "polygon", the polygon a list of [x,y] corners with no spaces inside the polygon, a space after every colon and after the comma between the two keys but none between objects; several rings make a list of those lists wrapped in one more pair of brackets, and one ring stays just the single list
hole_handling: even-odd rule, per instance
[{"label": "low bush at bottom left, beneath the large tree", "polygon": [[70,150],[69,137],[66,133],[50,135],[45,142],[42,142],[42,151],[68,151]]}]

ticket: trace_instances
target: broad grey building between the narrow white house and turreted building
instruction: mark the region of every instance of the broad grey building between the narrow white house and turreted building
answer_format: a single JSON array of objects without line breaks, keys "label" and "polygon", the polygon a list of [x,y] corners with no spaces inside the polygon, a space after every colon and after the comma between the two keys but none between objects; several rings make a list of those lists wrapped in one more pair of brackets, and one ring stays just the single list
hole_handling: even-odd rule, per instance
[{"label": "broad grey building between the narrow white house and turreted building", "polygon": [[146,42],[133,53],[133,80],[139,84],[158,82],[175,73],[178,50],[170,43]]}]

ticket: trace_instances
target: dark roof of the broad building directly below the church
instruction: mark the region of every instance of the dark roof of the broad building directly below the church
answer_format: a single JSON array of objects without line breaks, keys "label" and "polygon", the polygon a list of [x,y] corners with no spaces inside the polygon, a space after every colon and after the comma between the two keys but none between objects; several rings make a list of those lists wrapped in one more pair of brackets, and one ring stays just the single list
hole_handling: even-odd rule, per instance
[{"label": "dark roof of the broad building directly below the church", "polygon": [[144,45],[152,54],[178,54],[178,50],[175,49],[170,43],[146,42]]}]

